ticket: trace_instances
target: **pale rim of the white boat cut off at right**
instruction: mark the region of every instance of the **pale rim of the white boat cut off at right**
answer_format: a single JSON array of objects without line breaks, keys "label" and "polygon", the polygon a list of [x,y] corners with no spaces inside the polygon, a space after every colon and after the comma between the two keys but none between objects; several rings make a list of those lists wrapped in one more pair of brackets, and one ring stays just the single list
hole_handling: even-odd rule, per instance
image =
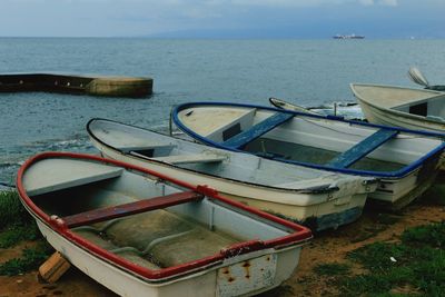
[{"label": "pale rim of the white boat cut off at right", "polygon": [[[441,126],[445,127],[445,121],[438,121],[438,120],[434,120],[434,119],[428,119],[427,117],[424,117],[424,116],[418,116],[418,115],[409,113],[409,112],[406,112],[406,111],[400,111],[400,110],[393,109],[393,108],[377,106],[377,105],[370,102],[368,99],[365,99],[363,96],[360,96],[356,91],[355,86],[394,88],[394,89],[408,89],[408,90],[417,90],[417,89],[398,87],[398,86],[388,86],[388,85],[355,83],[355,82],[354,83],[349,83],[349,88],[353,91],[354,96],[358,99],[358,101],[363,101],[363,102],[367,103],[370,107],[374,107],[374,108],[376,108],[378,110],[382,110],[382,111],[385,111],[385,112],[388,112],[388,113],[393,113],[393,115],[396,115],[396,116],[399,116],[399,117],[413,119],[415,121],[421,121],[422,120],[422,121],[427,121],[427,122],[432,122],[432,123],[441,125]],[[441,91],[434,91],[434,90],[427,90],[427,89],[421,89],[421,91],[434,92],[436,96],[432,96],[432,97],[426,98],[426,99],[419,99],[419,101],[435,99],[437,97],[444,97],[445,96],[445,92],[441,92]],[[415,102],[415,101],[413,101],[413,102]],[[411,103],[413,103],[413,102],[411,102]],[[406,103],[404,103],[404,105],[406,105]],[[396,106],[396,107],[399,107],[399,106]],[[396,108],[396,107],[394,107],[394,108]],[[424,127],[424,128],[427,129],[427,127]]]}]

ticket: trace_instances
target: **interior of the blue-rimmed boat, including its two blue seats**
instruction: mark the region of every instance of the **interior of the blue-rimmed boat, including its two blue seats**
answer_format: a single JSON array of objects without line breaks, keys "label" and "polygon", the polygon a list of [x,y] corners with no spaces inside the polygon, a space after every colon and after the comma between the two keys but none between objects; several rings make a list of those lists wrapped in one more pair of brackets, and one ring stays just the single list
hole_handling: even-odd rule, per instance
[{"label": "interior of the blue-rimmed boat, including its two blue seats", "polygon": [[[192,113],[180,111],[179,118],[201,137],[225,147],[336,169],[396,171],[442,145],[439,139],[384,128],[255,108],[233,113],[230,109],[236,108],[198,107]],[[225,110],[226,117],[217,117],[211,130],[196,125],[200,115]]]}]

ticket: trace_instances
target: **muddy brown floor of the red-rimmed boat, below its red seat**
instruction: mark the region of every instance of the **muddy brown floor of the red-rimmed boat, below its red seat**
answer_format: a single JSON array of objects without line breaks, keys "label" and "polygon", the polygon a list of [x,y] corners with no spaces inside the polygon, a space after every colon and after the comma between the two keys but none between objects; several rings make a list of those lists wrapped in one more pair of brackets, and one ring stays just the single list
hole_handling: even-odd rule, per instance
[{"label": "muddy brown floor of the red-rimmed boat, below its red seat", "polygon": [[149,211],[72,230],[101,248],[149,269],[205,258],[240,241],[166,210]]}]

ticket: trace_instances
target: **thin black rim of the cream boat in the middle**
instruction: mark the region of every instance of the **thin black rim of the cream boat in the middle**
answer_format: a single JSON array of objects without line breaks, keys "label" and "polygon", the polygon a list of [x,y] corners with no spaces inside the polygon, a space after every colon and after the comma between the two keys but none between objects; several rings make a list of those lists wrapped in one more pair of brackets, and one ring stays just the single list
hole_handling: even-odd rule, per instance
[{"label": "thin black rim of the cream boat in the middle", "polygon": [[[154,158],[150,158],[150,159],[142,159],[142,158],[140,158],[140,157],[137,157],[137,156],[127,154],[126,151],[123,151],[123,150],[121,150],[121,149],[119,149],[119,148],[116,148],[116,147],[113,147],[113,146],[111,146],[111,145],[108,145],[107,142],[103,142],[101,139],[99,139],[99,138],[92,132],[92,130],[91,130],[91,128],[90,128],[90,123],[92,123],[92,122],[96,121],[96,120],[108,121],[108,122],[118,123],[118,125],[122,125],[122,126],[127,126],[127,127],[131,127],[131,128],[137,128],[137,129],[141,129],[141,130],[145,130],[145,131],[154,132],[154,133],[157,133],[157,135],[161,135],[161,133],[159,133],[159,132],[157,132],[157,131],[154,131],[154,130],[150,130],[150,129],[142,128],[142,127],[138,127],[138,126],[134,126],[134,125],[123,123],[123,122],[120,122],[120,121],[115,121],[115,120],[109,120],[109,119],[103,119],[103,118],[92,118],[92,119],[90,119],[90,120],[88,121],[88,123],[87,123],[87,132],[88,132],[88,135],[89,135],[92,139],[95,139],[96,141],[98,141],[100,145],[102,145],[102,146],[105,146],[105,147],[107,147],[107,148],[109,148],[109,149],[111,149],[111,150],[113,150],[113,151],[116,151],[116,152],[118,152],[118,154],[120,154],[120,155],[127,157],[127,158],[132,158],[132,159],[136,159],[136,160],[144,160],[144,161],[149,161],[149,162],[156,162],[156,164],[160,164],[160,165],[166,166],[166,167],[175,168],[175,169],[178,169],[178,170],[190,171],[190,172],[194,172],[194,174],[197,174],[197,175],[205,175],[205,176],[209,176],[209,177],[214,177],[214,178],[220,178],[220,179],[224,179],[224,180],[234,181],[234,182],[238,182],[238,184],[247,184],[247,185],[253,186],[253,187],[266,188],[266,189],[274,189],[274,190],[280,190],[280,191],[284,191],[284,192],[297,192],[297,194],[307,194],[307,195],[320,195],[320,194],[335,192],[335,191],[338,191],[338,190],[339,190],[338,187],[327,187],[327,188],[300,188],[300,189],[281,188],[281,187],[276,187],[276,186],[268,186],[268,185],[256,184],[256,182],[251,182],[251,181],[244,181],[244,180],[239,180],[239,179],[233,179],[233,178],[229,178],[229,177],[221,177],[221,176],[217,176],[217,175],[212,175],[212,174],[208,174],[208,172],[202,172],[202,171],[194,170],[194,169],[190,169],[190,168],[182,168],[182,167],[179,167],[179,166],[177,166],[177,165],[175,165],[175,164],[166,162],[166,161],[162,161],[162,160],[156,160],[156,159],[154,159]],[[165,136],[165,135],[161,135],[161,136]],[[167,136],[166,136],[166,137],[167,137]],[[186,141],[186,142],[192,143],[192,145],[199,145],[199,143],[196,143],[196,142],[194,142],[194,141],[187,140],[187,139],[175,139],[175,140]],[[219,148],[217,148],[217,149],[219,149]],[[240,152],[240,151],[235,151],[235,152]],[[258,157],[258,158],[260,158],[260,157]],[[271,160],[274,160],[274,159],[271,159]],[[308,180],[309,180],[309,179],[308,179]],[[364,185],[365,185],[365,186],[366,186],[366,185],[372,185],[372,184],[375,184],[375,182],[377,182],[377,181],[376,181],[376,180],[370,180],[370,179],[369,179],[369,180],[364,180]]]}]

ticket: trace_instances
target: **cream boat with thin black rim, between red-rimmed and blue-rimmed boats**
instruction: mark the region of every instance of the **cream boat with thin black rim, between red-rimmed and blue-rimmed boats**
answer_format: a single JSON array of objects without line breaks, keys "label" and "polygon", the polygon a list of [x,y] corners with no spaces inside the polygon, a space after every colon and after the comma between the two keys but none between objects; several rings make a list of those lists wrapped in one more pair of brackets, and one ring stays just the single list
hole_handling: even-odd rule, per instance
[{"label": "cream boat with thin black rim, between red-rimmed and blue-rimmed boats", "polygon": [[87,123],[91,142],[102,156],[175,176],[191,185],[209,185],[221,195],[313,230],[337,228],[356,220],[369,177],[338,175],[257,156],[211,148],[111,120]]}]

